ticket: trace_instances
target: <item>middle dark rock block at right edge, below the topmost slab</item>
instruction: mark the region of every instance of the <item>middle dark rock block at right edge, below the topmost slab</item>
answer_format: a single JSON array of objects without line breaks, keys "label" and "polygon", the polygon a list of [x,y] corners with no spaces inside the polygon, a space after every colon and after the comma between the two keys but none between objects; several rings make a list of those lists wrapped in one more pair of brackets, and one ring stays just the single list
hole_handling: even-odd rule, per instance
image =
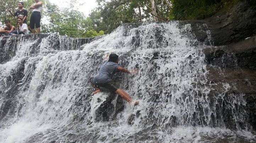
[{"label": "middle dark rock block at right edge, below the topmost slab", "polygon": [[256,70],[256,36],[227,46],[204,50],[210,65]]}]

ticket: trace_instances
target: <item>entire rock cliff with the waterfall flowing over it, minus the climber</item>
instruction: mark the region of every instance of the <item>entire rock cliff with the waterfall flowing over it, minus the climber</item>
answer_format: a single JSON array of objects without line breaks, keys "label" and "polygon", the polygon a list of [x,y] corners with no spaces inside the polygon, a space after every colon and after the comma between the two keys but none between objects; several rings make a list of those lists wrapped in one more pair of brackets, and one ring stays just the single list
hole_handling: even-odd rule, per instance
[{"label": "entire rock cliff with the waterfall flowing over it, minus the climber", "polygon": [[[255,142],[255,11],[123,24],[110,35],[0,37],[0,142]],[[91,96],[108,53],[134,99]],[[230,129],[230,130],[226,130]]]}]

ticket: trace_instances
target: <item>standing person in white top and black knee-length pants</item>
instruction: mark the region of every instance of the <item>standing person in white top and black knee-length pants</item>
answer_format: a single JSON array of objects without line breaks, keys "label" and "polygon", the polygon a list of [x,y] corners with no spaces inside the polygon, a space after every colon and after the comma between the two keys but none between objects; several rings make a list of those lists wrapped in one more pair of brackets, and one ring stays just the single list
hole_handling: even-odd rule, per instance
[{"label": "standing person in white top and black knee-length pants", "polygon": [[41,20],[41,10],[43,8],[43,3],[40,0],[35,0],[35,4],[29,7],[32,11],[30,17],[30,28],[32,33],[35,33],[35,27],[37,28],[37,33],[40,33],[40,20]]}]

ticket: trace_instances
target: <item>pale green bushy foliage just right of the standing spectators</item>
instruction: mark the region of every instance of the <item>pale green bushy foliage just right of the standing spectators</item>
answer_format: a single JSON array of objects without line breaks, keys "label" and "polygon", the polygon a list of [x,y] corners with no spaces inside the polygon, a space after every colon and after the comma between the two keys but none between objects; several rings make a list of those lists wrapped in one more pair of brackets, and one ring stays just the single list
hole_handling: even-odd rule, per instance
[{"label": "pale green bushy foliage just right of the standing spectators", "polygon": [[56,5],[46,5],[46,12],[49,16],[49,24],[42,28],[44,33],[54,33],[74,38],[94,37],[104,35],[93,29],[91,18],[85,18],[83,13],[76,10],[60,10]]}]

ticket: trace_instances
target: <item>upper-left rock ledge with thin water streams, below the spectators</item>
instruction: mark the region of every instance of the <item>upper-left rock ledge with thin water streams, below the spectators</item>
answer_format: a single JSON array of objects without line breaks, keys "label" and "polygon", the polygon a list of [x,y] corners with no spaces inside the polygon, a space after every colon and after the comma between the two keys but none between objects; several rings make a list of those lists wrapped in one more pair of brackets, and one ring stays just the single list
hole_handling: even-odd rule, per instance
[{"label": "upper-left rock ledge with thin water streams, below the spectators", "polygon": [[[0,64],[10,61],[16,55],[17,49],[27,48],[30,56],[37,56],[42,50],[44,54],[59,50],[81,50],[81,46],[89,43],[94,38],[70,38],[50,34],[29,34],[1,37],[0,40]],[[47,41],[47,45],[41,44]],[[42,53],[40,53],[42,54]]]}]

